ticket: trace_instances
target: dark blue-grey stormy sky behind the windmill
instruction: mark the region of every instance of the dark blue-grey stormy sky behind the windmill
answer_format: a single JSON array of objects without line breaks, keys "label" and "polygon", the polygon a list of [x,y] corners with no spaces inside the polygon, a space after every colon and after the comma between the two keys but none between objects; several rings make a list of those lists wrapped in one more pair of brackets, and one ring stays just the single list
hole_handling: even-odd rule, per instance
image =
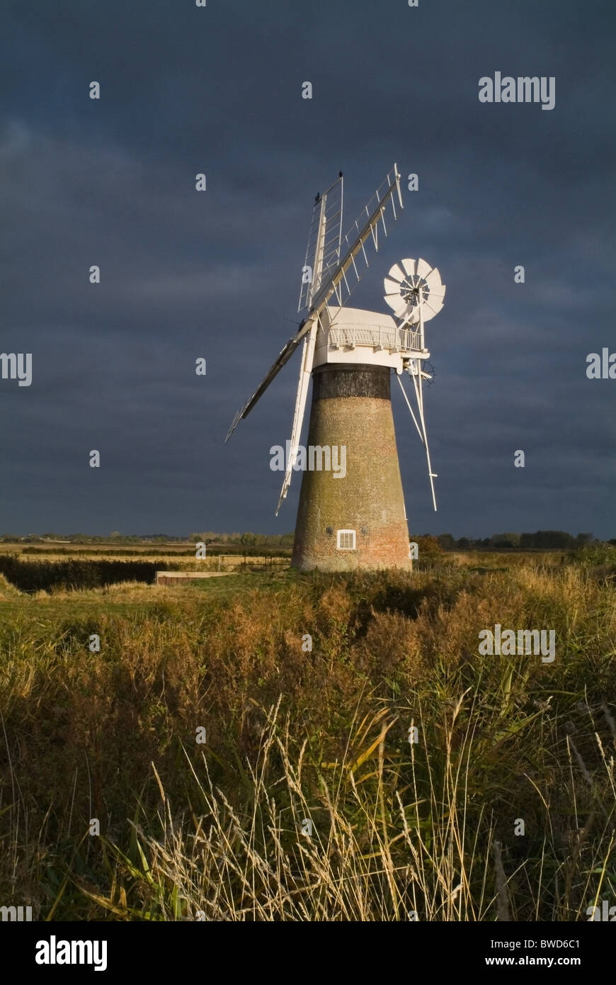
[{"label": "dark blue-grey stormy sky behind the windmill", "polygon": [[[292,530],[301,477],[276,518],[269,449],[298,356],[223,437],[293,333],[315,193],[341,168],[351,220],[396,161],[419,190],[349,304],[389,311],[402,256],[447,285],[427,326],[436,515],[393,391],[411,531],[616,536],[616,380],[585,375],[616,352],[612,0],[5,0],[0,18],[0,352],[32,354],[30,387],[0,379],[0,532]],[[554,109],[480,103],[496,71],[554,76]]]}]

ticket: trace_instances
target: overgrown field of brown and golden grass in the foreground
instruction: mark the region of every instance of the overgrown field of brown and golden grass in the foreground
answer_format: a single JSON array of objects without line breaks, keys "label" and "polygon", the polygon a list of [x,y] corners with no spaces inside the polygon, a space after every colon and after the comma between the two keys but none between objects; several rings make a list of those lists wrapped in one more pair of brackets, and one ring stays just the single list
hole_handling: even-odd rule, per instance
[{"label": "overgrown field of brown and golden grass in the foreground", "polygon": [[[491,553],[30,595],[0,576],[0,902],[586,920],[616,902],[615,563]],[[553,628],[554,662],[480,655],[495,624]]]}]

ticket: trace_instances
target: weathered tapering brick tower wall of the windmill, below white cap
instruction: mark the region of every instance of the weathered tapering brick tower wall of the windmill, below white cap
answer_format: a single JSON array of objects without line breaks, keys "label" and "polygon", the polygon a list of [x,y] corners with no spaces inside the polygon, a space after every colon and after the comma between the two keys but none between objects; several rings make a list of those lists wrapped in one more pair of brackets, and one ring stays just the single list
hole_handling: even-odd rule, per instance
[{"label": "weathered tapering brick tower wall of the windmill, below white cap", "polygon": [[[308,444],[345,445],[346,476],[335,479],[333,472],[316,471],[303,474],[292,559],[292,565],[301,570],[412,566],[389,396],[390,370],[382,366],[358,368],[364,382],[357,377],[357,386],[353,386],[353,379],[349,385],[348,364],[335,370],[338,376],[332,374],[333,365],[327,367],[327,386],[322,381],[314,385],[313,376]],[[366,369],[376,374],[372,385],[365,385]],[[318,372],[316,369],[314,375]],[[332,395],[339,392],[384,395]],[[320,393],[327,395],[320,398]],[[327,532],[328,527],[333,533]],[[340,529],[355,530],[355,551],[338,550]]]}]

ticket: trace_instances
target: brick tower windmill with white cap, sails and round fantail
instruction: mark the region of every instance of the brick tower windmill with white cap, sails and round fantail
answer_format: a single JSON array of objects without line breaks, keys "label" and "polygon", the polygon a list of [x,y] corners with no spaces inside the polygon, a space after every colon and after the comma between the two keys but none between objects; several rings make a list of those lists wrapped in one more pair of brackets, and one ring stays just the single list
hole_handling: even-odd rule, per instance
[{"label": "brick tower windmill with white cap, sails and round fantail", "polygon": [[[277,513],[293,470],[299,471],[299,439],[312,378],[308,446],[321,452],[316,468],[304,471],[292,564],[302,570],[354,567],[410,567],[408,527],[391,403],[394,369],[411,418],[425,447],[432,500],[434,482],[426,433],[422,368],[424,324],[443,307],[445,286],[425,260],[400,260],[385,278],[385,300],[394,315],[349,308],[345,302],[387,236],[386,219],[402,208],[398,165],[387,175],[360,217],[342,236],[343,178],[317,194],[308,234],[298,311],[305,311],[295,335],[280,351],[265,378],[235,415],[225,437],[247,417],[259,398],[303,342],[289,453]],[[411,381],[413,411],[401,383]],[[342,478],[324,465],[323,450],[345,449]],[[314,461],[314,459],[313,459]],[[338,480],[338,481],[337,481]]]}]

